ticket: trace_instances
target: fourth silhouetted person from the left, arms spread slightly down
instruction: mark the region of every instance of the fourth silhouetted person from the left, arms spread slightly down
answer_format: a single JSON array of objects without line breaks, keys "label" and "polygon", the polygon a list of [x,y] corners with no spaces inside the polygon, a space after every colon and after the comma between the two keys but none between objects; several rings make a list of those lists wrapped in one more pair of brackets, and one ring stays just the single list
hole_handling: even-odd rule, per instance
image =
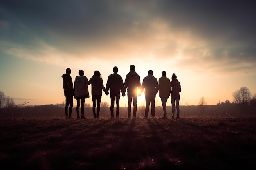
[{"label": "fourth silhouetted person from the left, arms spread slightly down", "polygon": [[116,99],[116,105],[117,105],[117,111],[116,111],[116,118],[119,118],[119,101],[120,101],[120,91],[122,92],[124,96],[124,81],[123,78],[117,74],[118,68],[115,66],[113,68],[113,74],[110,74],[108,76],[108,81],[106,84],[106,89],[108,92],[108,89],[110,89],[110,99],[111,99],[111,105],[110,105],[110,113],[111,118],[114,118],[114,104]]}]

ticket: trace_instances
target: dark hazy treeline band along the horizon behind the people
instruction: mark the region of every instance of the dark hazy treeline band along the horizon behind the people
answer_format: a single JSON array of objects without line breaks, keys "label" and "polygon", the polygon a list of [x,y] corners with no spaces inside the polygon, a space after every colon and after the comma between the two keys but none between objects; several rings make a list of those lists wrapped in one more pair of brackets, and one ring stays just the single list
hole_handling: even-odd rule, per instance
[{"label": "dark hazy treeline band along the horizon behind the people", "polygon": [[[155,117],[159,118],[164,115],[162,106],[155,109]],[[246,112],[245,112],[246,111]],[[145,107],[137,107],[137,117],[144,117]],[[171,106],[167,106],[167,116],[171,117]],[[81,113],[80,113],[81,114]],[[115,114],[115,108],[114,108]],[[256,105],[242,106],[238,104],[219,103],[217,105],[198,105],[198,106],[180,106],[180,116],[235,116],[235,115],[255,115]],[[149,112],[150,115],[150,112]],[[127,118],[127,107],[120,107],[119,118]],[[42,106],[26,106],[14,108],[0,108],[0,117],[65,117],[64,106],[42,105]],[[76,107],[73,107],[72,117],[76,118]],[[85,106],[85,118],[93,118],[92,107]],[[108,105],[101,106],[99,118],[110,118],[110,107]]]}]

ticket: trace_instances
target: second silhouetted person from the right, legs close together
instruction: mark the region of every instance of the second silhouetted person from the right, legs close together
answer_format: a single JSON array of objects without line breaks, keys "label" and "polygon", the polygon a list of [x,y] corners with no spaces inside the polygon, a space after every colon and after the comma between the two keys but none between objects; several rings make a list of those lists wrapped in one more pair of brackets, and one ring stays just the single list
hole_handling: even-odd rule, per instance
[{"label": "second silhouetted person from the right, legs close together", "polygon": [[164,117],[163,119],[167,119],[167,111],[166,111],[166,102],[171,94],[171,86],[170,86],[170,79],[166,77],[166,72],[162,71],[162,77],[158,80],[158,88],[159,88],[159,97],[161,98],[163,110],[164,110]]}]

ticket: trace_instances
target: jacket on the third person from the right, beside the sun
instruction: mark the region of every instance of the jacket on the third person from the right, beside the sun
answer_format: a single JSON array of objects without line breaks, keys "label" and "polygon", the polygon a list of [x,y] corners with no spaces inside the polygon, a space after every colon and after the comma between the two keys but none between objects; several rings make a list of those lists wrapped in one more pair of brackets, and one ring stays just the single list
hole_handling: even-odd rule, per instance
[{"label": "jacket on the third person from the right, beside the sun", "polygon": [[157,83],[157,79],[152,74],[148,74],[148,76],[143,78],[141,89],[144,90],[144,88],[145,88],[145,95],[157,94],[158,83]]}]

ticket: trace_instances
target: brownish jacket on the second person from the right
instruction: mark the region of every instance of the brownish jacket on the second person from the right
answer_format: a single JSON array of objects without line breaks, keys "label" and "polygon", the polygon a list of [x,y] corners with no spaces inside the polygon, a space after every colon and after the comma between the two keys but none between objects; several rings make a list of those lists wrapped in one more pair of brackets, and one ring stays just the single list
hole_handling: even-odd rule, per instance
[{"label": "brownish jacket on the second person from the right", "polygon": [[171,85],[170,79],[166,76],[162,76],[158,80],[159,83],[159,97],[160,98],[169,98],[171,94]]}]

